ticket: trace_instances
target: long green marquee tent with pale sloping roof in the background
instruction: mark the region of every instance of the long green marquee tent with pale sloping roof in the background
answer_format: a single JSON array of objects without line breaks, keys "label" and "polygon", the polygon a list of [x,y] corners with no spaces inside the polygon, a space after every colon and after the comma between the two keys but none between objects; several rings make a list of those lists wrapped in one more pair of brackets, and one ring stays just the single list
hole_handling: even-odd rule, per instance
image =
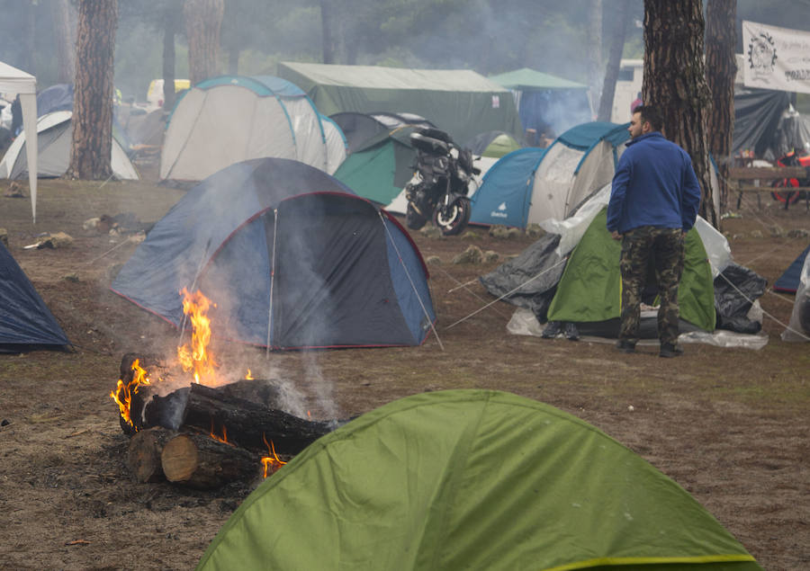
[{"label": "long green marquee tent with pale sloping roof in the background", "polygon": [[280,62],[276,74],[298,85],[324,115],[410,112],[455,141],[502,130],[523,137],[508,89],[472,69],[410,69]]}]

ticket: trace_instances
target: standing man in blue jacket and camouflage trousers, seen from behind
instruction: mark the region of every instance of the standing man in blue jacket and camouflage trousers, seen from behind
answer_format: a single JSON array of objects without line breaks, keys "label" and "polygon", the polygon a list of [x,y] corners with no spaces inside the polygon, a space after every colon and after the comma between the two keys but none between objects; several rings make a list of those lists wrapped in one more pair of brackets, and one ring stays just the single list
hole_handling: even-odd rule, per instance
[{"label": "standing man in blue jacket and camouflage trousers, seen from behind", "polygon": [[683,352],[678,340],[678,286],[684,236],[695,224],[700,185],[692,160],[663,138],[661,113],[641,105],[630,121],[631,141],[619,159],[608,202],[608,231],[622,241],[622,325],[617,348],[635,352],[641,297],[649,263],[654,264],[661,307],[661,357]]}]

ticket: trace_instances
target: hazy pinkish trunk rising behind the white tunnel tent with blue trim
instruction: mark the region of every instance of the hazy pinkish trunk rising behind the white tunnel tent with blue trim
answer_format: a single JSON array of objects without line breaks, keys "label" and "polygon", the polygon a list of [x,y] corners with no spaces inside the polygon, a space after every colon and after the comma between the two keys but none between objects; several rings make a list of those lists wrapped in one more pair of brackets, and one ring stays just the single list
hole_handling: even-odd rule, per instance
[{"label": "hazy pinkish trunk rising behind the white tunnel tent with blue trim", "polygon": [[184,0],[188,78],[192,85],[220,74],[220,28],[224,0]]}]

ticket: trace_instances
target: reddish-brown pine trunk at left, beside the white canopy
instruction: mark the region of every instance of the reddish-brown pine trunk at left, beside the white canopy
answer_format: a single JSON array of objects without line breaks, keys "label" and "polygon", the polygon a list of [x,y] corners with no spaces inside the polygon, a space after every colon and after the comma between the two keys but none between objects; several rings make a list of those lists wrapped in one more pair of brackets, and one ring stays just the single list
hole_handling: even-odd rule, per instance
[{"label": "reddish-brown pine trunk at left, beside the white canopy", "polygon": [[78,11],[73,146],[66,176],[105,180],[112,174],[112,54],[118,0],[81,0]]}]

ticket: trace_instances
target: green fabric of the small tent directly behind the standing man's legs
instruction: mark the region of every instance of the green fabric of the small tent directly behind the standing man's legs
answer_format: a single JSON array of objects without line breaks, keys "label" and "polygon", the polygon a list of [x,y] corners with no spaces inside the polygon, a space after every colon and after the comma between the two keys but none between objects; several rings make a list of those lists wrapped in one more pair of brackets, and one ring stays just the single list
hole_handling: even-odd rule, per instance
[{"label": "green fabric of the small tent directly behind the standing man's legs", "polygon": [[[622,247],[606,228],[607,213],[606,209],[599,212],[574,248],[548,308],[549,321],[582,323],[621,316],[619,258]],[[695,228],[689,230],[685,248],[683,276],[678,289],[680,318],[705,331],[714,331],[712,270],[706,248]]]}]

